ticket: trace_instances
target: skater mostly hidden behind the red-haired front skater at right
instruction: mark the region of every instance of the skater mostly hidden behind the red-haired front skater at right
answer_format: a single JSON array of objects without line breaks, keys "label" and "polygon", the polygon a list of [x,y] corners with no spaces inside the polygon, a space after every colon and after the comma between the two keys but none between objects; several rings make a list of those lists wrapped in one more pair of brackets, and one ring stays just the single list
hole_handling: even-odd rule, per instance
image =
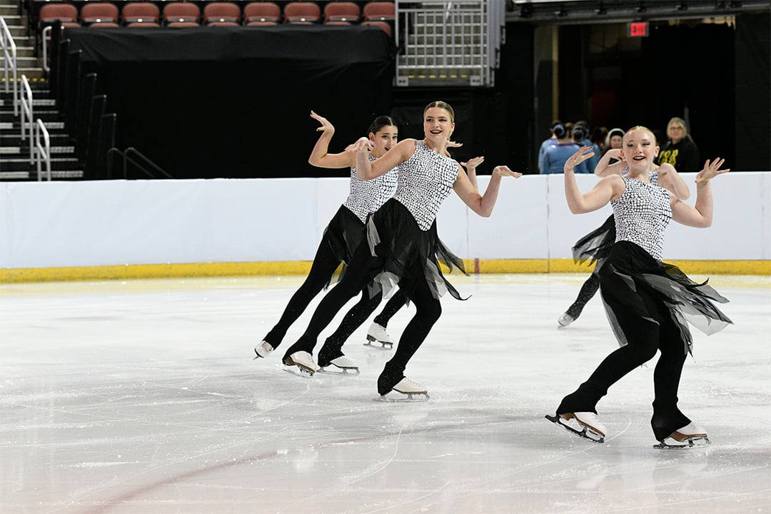
[{"label": "skater mostly hidden behind the red-haired front skater at right", "polygon": [[[611,132],[618,133],[619,129],[613,129]],[[621,130],[621,137],[623,137],[624,131]],[[616,136],[614,136],[616,137]],[[621,146],[621,143],[618,144]],[[655,149],[656,155],[658,155],[658,146]],[[594,169],[594,174],[597,176],[609,176],[613,174],[620,174],[625,176],[628,173],[628,166],[625,161],[621,160],[620,149],[610,149],[602,156],[597,167]],[[682,176],[677,173],[675,167],[670,164],[651,164],[651,170],[648,173],[648,180],[654,186],[662,186],[666,190],[674,193],[680,200],[688,200],[691,196],[691,192],[688,190],[688,186],[685,184],[685,180],[682,180]],[[605,223],[590,233],[581,237],[573,247],[573,259],[580,264],[584,264],[587,260],[594,262],[594,270],[589,278],[581,285],[581,289],[578,291],[578,297],[567,308],[560,317],[557,318],[557,328],[565,328],[567,325],[573,323],[581,316],[581,312],[584,311],[586,304],[594,297],[597,290],[600,288],[600,269],[604,264],[605,257],[610,254],[611,246],[613,246],[616,240],[616,226],[613,220],[613,215],[605,220]]]}]

